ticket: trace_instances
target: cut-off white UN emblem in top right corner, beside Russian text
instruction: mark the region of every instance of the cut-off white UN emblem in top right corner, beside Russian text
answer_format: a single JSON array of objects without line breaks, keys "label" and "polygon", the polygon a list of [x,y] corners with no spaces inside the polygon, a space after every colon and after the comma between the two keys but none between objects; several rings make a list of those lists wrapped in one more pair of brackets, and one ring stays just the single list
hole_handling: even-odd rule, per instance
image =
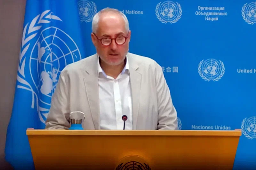
[{"label": "cut-off white UN emblem in top right corner, beside Russian text", "polygon": [[256,22],[256,2],[252,2],[242,7],[242,16],[245,22],[248,24],[254,24]]}]

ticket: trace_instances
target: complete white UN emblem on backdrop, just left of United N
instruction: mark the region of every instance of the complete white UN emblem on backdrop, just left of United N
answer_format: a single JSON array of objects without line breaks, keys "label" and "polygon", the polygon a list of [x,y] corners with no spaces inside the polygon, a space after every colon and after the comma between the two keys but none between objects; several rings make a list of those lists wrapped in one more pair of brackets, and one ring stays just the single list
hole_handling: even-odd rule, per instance
[{"label": "complete white UN emblem on backdrop, just left of United N", "polygon": [[[220,61],[220,60],[219,60]],[[198,73],[205,81],[218,81],[225,73],[225,66],[222,61],[215,59],[202,60],[198,64]]]}]

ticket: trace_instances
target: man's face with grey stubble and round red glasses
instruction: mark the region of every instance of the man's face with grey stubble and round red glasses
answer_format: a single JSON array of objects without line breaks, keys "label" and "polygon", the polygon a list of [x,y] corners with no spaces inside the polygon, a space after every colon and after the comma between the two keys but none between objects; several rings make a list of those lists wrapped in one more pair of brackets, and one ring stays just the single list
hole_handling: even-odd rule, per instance
[{"label": "man's face with grey stubble and round red glasses", "polygon": [[[131,31],[127,32],[125,29],[124,18],[114,12],[105,12],[100,16],[98,29],[95,34],[91,34],[92,42],[96,47],[100,59],[108,65],[116,66],[121,64],[129,50],[129,42],[131,38]],[[123,45],[118,45],[114,38],[122,39],[121,36],[127,37]],[[107,40],[111,38],[112,42],[109,46],[101,44],[99,39]],[[104,41],[103,40],[103,41]]]}]

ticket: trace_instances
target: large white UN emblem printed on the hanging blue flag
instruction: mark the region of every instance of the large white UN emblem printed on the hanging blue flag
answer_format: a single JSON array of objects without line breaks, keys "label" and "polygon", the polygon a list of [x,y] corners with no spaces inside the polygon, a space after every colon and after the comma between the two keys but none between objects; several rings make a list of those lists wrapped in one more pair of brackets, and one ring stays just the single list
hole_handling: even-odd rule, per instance
[{"label": "large white UN emblem printed on the hanging blue flag", "polygon": [[[61,70],[81,60],[75,41],[61,29],[46,24],[62,21],[50,10],[39,14],[23,30],[17,88],[31,91],[31,108],[45,123]],[[40,29],[44,25],[44,29]]]}]

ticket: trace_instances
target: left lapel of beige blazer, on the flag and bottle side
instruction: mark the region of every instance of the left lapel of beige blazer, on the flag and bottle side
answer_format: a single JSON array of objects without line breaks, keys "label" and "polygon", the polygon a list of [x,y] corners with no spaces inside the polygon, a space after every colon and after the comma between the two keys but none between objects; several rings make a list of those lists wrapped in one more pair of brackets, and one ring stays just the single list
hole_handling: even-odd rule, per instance
[{"label": "left lapel of beige blazer, on the flag and bottle side", "polygon": [[97,54],[92,56],[91,61],[85,66],[84,85],[86,89],[87,100],[91,110],[92,120],[95,129],[100,129],[100,110],[99,110],[99,89],[97,74]]}]

